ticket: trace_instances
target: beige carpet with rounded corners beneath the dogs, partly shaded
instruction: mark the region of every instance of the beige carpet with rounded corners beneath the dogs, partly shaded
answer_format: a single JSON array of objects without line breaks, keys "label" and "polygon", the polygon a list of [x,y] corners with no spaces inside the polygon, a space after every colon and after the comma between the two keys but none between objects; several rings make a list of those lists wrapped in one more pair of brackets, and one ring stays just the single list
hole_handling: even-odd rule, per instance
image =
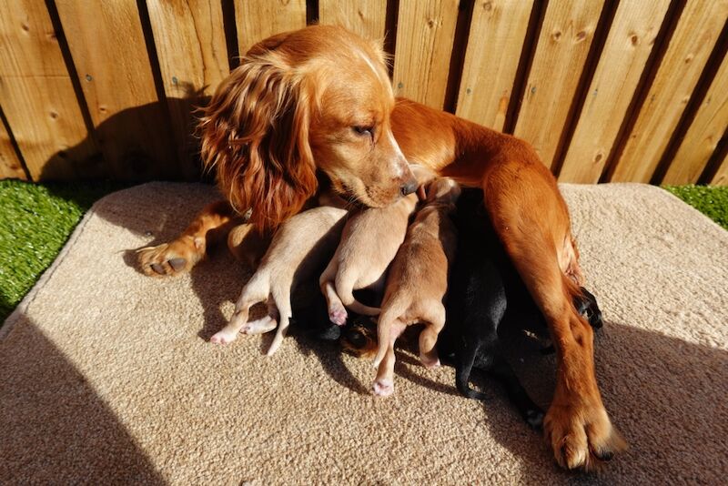
[{"label": "beige carpet with rounded corners beneath the dogs, partly shaded", "polygon": [[[728,232],[656,187],[563,192],[606,320],[603,399],[632,446],[602,476],[560,471],[495,384],[466,400],[452,369],[407,353],[381,400],[369,361],[327,344],[210,345],[247,271],[220,252],[180,278],[138,273],[128,249],[216,197],[154,183],[96,203],[0,330],[0,483],[724,483]],[[553,357],[511,354],[546,407]]]}]

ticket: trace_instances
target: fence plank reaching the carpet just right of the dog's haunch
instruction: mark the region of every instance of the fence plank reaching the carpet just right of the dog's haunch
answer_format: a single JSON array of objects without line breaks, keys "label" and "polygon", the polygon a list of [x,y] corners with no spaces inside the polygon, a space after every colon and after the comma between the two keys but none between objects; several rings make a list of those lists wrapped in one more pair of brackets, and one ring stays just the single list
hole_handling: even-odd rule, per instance
[{"label": "fence plank reaching the carpet just right of the dog's haunch", "polygon": [[669,0],[620,3],[561,166],[560,181],[599,182],[669,5]]}]

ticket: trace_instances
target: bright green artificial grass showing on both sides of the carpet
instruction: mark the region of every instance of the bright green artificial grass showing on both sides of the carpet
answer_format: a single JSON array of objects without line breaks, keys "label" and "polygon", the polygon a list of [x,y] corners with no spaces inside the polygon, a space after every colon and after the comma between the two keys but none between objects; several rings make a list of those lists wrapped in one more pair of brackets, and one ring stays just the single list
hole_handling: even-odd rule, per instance
[{"label": "bright green artificial grass showing on both sides of the carpet", "polygon": [[[53,262],[94,201],[126,186],[0,180],[0,325]],[[728,187],[664,188],[728,229]]]}]

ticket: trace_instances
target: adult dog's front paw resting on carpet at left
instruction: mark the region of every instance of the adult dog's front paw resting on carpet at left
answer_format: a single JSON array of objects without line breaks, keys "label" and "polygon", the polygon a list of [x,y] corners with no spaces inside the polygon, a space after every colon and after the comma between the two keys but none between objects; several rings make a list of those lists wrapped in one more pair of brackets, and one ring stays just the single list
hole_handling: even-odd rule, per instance
[{"label": "adult dog's front paw resting on carpet at left", "polygon": [[156,247],[136,250],[139,267],[149,277],[178,275],[189,271],[205,256],[205,244],[194,238],[178,238]]}]

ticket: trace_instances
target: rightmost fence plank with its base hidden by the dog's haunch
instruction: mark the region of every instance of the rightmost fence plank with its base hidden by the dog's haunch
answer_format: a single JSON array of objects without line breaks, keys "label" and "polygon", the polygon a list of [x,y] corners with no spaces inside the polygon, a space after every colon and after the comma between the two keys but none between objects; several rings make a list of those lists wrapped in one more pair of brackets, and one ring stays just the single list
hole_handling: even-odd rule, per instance
[{"label": "rightmost fence plank with its base hidden by the dog's haunch", "polygon": [[551,0],[514,135],[526,139],[551,167],[579,84],[603,0]]}]

